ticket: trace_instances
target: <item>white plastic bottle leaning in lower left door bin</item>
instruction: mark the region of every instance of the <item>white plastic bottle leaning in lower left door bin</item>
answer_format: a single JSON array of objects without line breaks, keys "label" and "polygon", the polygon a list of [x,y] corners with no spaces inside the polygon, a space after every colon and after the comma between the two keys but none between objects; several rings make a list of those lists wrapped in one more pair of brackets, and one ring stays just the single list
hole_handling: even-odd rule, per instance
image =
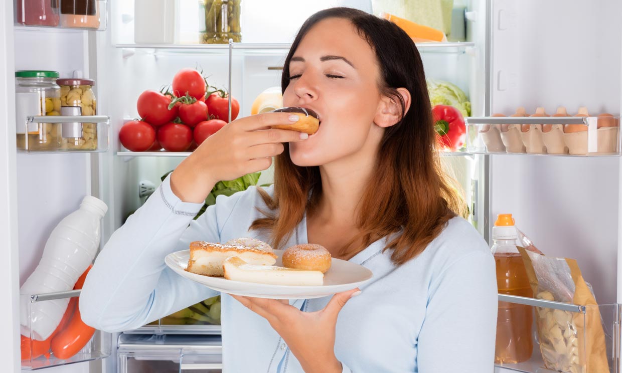
[{"label": "white plastic bottle leaning in lower left door bin", "polygon": [[30,303],[29,295],[71,290],[78,277],[93,262],[101,238],[101,218],[108,206],[85,196],[80,209],[66,216],[45,242],[34,272],[20,288],[21,333],[45,341],[56,329],[70,298]]}]

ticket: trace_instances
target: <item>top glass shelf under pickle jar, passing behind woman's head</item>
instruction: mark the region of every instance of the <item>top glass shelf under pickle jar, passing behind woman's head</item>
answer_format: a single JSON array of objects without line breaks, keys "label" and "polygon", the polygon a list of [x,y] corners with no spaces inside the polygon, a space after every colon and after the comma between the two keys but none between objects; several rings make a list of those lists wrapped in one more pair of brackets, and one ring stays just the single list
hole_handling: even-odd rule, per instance
[{"label": "top glass shelf under pickle jar, passing behind woman's head", "polygon": [[[449,53],[462,54],[468,48],[473,48],[475,43],[417,43],[420,53]],[[291,44],[244,44],[232,43],[231,49],[235,55],[274,55],[287,54]],[[228,55],[228,44],[117,44],[117,48],[132,49],[142,53],[165,53],[165,54],[213,54]]]}]

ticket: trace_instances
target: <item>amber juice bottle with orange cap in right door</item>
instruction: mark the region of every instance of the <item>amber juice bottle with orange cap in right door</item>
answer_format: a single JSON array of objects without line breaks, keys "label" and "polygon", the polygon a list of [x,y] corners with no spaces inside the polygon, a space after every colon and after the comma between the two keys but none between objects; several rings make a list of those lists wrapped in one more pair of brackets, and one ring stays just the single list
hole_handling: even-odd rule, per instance
[{"label": "amber juice bottle with orange cap in right door", "polygon": [[[525,265],[516,249],[516,228],[512,214],[500,214],[493,227],[493,246],[499,294],[533,297]],[[514,364],[526,361],[533,350],[531,306],[499,302],[494,361]]]}]

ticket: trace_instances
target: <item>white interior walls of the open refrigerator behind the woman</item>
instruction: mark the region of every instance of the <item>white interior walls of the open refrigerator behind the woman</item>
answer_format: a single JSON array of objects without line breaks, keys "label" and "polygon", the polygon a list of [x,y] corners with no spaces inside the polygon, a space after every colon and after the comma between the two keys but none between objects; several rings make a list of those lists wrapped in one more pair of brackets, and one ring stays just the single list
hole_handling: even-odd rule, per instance
[{"label": "white interior walls of the open refrigerator behind the woman", "polygon": [[[183,6],[190,2],[180,4],[180,17],[192,19],[188,16],[192,7]],[[335,5],[366,11],[372,6],[371,1],[356,0],[295,6],[285,0],[271,1],[270,6],[244,1],[243,42],[274,47],[233,51],[231,94],[241,105],[239,116],[250,113],[262,90],[280,85],[281,70],[274,67],[282,65],[287,53],[283,44],[291,42],[302,21],[312,12]],[[486,40],[489,6],[490,50]],[[53,227],[77,209],[83,196],[92,194],[108,204],[103,246],[144,202],[139,183],[149,181],[157,186],[160,177],[183,160],[118,155],[123,150],[118,131],[124,121],[137,117],[136,98],[142,91],[159,90],[180,68],[196,66],[210,76],[211,85],[228,86],[228,56],[222,50],[132,45],[134,1],[110,1],[108,8],[106,31],[7,27],[12,29],[7,35],[14,37],[14,50],[7,57],[13,59],[14,70],[56,70],[61,76],[81,71],[82,76],[96,81],[98,114],[111,117],[110,147],[103,154],[17,153],[19,212],[14,215],[19,226],[20,284],[39,262]],[[474,12],[468,34],[475,47],[452,53],[421,48],[421,54],[427,78],[451,81],[469,93],[473,116],[511,114],[517,106],[530,113],[544,106],[550,114],[559,105],[570,113],[587,106],[595,114],[620,115],[622,26],[616,15],[622,4],[606,0],[494,0],[488,4],[473,0],[468,10]],[[282,22],[264,27],[261,22],[275,17],[275,12]],[[190,22],[179,27],[177,35],[183,37],[183,27],[193,26]],[[12,83],[7,85],[11,91]],[[599,303],[618,301],[618,157],[494,155],[443,160],[452,165],[467,198],[476,203],[476,226],[482,234],[488,236],[493,216],[513,213],[519,228],[547,255],[578,260]],[[261,182],[269,180],[268,170],[262,173]],[[85,362],[49,371],[112,373],[116,357],[103,364]]]}]

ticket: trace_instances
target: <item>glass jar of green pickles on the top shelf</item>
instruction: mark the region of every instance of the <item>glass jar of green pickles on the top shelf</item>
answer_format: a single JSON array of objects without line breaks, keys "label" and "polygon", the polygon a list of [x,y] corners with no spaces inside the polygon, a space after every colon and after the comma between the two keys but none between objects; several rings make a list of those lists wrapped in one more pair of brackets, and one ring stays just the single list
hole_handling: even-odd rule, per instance
[{"label": "glass jar of green pickles on the top shelf", "polygon": [[242,41],[239,24],[241,0],[199,0],[205,7],[205,32],[202,44],[227,44],[229,39]]}]

